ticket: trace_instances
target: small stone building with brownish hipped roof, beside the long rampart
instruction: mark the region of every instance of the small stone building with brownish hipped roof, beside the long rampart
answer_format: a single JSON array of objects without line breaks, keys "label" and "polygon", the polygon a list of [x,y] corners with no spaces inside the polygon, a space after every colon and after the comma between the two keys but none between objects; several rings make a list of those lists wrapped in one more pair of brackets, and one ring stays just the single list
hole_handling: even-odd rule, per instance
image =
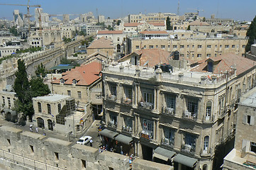
[{"label": "small stone building with brownish hipped roof, beside the long rampart", "polygon": [[113,40],[101,37],[91,42],[87,47],[87,55],[92,55],[94,52],[104,52],[107,56],[113,56]]}]

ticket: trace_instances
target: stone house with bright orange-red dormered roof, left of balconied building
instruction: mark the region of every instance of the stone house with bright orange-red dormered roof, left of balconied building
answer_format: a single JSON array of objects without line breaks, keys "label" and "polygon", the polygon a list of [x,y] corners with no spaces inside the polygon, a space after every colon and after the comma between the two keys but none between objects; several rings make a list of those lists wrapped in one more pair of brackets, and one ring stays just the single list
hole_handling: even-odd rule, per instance
[{"label": "stone house with bright orange-red dormered roof, left of balconied building", "polygon": [[89,108],[89,115],[96,117],[101,113],[102,85],[101,63],[94,61],[62,73],[60,79],[52,81],[53,94],[62,94],[74,98],[77,106]]}]

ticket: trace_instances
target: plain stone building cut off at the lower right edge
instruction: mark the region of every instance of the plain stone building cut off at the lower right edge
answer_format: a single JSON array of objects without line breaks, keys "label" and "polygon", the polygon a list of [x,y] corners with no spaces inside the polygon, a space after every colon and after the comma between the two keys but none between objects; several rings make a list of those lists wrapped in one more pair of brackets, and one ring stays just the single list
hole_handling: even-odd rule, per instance
[{"label": "plain stone building cut off at the lower right edge", "polygon": [[256,89],[240,97],[235,124],[235,148],[224,158],[223,170],[256,167]]}]

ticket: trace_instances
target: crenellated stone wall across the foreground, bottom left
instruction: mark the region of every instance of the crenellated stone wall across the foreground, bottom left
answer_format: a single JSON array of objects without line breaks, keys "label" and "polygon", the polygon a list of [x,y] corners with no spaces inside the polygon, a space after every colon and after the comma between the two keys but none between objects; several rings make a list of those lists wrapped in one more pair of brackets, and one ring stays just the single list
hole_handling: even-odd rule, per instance
[{"label": "crenellated stone wall across the foreground, bottom left", "polygon": [[[0,157],[0,164],[6,169],[130,169],[128,156],[99,153],[93,147],[7,126],[0,127]],[[173,167],[136,158],[133,169],[172,170]]]}]

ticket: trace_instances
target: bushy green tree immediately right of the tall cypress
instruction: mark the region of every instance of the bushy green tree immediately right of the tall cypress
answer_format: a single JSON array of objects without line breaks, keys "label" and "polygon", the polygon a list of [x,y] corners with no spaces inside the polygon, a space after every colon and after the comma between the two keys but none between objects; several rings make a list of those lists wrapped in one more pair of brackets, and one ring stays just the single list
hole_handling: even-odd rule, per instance
[{"label": "bushy green tree immediately right of the tall cypress", "polygon": [[40,77],[33,77],[30,80],[31,96],[45,96],[50,94],[50,89],[47,84],[43,84],[43,79]]}]

